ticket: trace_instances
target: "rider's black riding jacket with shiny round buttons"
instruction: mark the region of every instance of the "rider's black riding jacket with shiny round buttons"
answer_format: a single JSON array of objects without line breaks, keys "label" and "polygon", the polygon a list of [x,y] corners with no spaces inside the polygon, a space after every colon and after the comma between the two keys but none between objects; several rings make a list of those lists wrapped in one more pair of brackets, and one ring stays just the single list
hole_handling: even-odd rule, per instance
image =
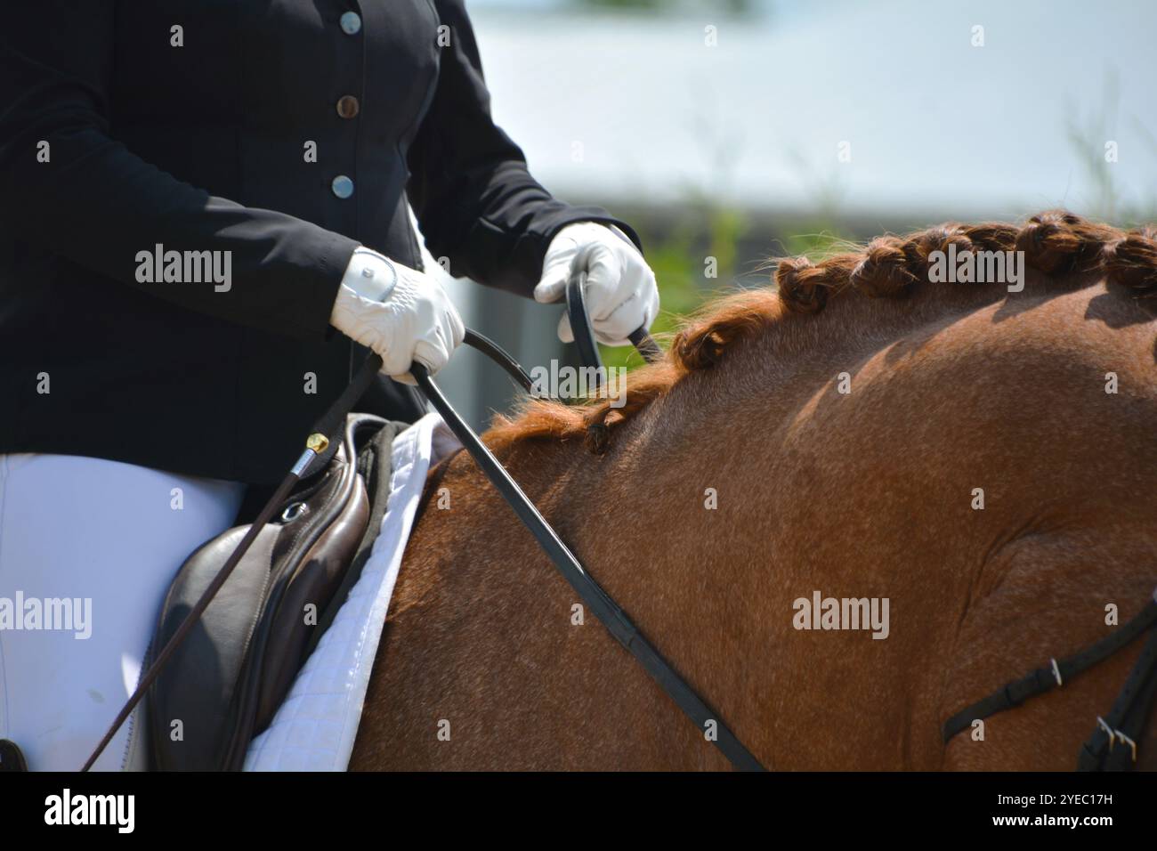
[{"label": "rider's black riding jacket with shiny round buttons", "polygon": [[[452,274],[524,295],[562,226],[634,239],[488,100],[463,0],[6,5],[0,453],[278,480],[364,357],[329,324],[354,248],[420,266],[407,200]],[[420,412],[385,379],[361,408]]]}]

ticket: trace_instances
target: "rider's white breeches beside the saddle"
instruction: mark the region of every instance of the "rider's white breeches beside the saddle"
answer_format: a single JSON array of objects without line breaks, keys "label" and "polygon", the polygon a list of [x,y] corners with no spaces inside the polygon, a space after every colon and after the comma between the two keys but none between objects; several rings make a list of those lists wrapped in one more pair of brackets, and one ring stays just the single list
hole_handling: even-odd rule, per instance
[{"label": "rider's white breeches beside the saddle", "polygon": [[[71,455],[0,455],[0,738],[75,771],[137,687],[177,568],[245,485]],[[120,770],[131,718],[96,763]]]}]

